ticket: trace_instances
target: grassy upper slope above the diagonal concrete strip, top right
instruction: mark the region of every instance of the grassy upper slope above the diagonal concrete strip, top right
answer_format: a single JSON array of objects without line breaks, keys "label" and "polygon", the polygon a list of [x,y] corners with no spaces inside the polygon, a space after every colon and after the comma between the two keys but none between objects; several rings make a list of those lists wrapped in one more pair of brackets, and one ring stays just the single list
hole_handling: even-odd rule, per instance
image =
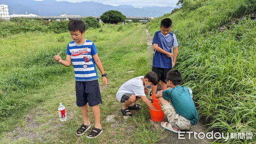
[{"label": "grassy upper slope above the diagonal concrete strip, top right", "polygon": [[[233,17],[242,17],[256,11],[255,5],[255,0],[207,0],[194,11],[180,9],[170,16],[166,14],[166,17],[173,20],[172,32],[183,43],[230,22]],[[166,17],[159,17],[148,23],[147,28],[152,35],[159,30],[160,20]]]}]

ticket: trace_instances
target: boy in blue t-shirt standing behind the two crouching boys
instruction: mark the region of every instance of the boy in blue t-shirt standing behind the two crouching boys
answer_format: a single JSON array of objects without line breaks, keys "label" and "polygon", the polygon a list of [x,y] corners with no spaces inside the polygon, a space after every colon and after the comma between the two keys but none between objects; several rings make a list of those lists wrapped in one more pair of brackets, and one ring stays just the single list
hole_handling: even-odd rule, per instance
[{"label": "boy in blue t-shirt standing behind the two crouching boys", "polygon": [[[161,89],[167,88],[166,73],[175,66],[178,43],[176,36],[170,32],[172,29],[172,20],[165,18],[161,20],[160,31],[155,32],[153,38],[154,58],[152,71],[158,75],[161,80]],[[173,49],[173,54],[172,54]],[[152,95],[156,93],[157,86],[152,86]]]}]

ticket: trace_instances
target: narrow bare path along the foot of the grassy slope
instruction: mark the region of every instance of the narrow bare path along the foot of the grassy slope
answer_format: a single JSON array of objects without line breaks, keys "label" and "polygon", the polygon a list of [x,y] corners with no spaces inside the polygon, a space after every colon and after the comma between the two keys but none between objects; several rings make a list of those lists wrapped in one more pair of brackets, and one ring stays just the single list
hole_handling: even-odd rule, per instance
[{"label": "narrow bare path along the foot of the grassy slope", "polygon": [[[148,44],[148,52],[150,54],[153,53],[154,49],[153,49],[153,45],[152,45],[152,40],[153,37],[149,34],[148,29],[146,29],[146,35],[147,35],[147,44]],[[165,117],[163,121],[168,121],[168,119]],[[151,127],[152,128],[161,128],[160,126],[160,122],[154,122],[151,121]],[[198,124],[196,124],[195,126],[192,126],[189,130],[183,131],[183,132],[204,132],[206,133],[207,127],[204,126],[203,123],[198,122]],[[163,138],[162,140],[158,141],[158,143],[162,143],[162,144],[207,144],[209,142],[211,142],[209,139],[207,138],[203,138],[200,139],[198,138],[198,135],[196,135],[196,138],[194,138],[194,133],[190,134],[190,138],[189,138],[189,133],[184,133],[184,136],[180,135],[181,138],[185,138],[185,139],[179,139],[178,138],[178,134],[169,132],[167,130],[163,130],[163,135],[167,134],[166,138]]]}]

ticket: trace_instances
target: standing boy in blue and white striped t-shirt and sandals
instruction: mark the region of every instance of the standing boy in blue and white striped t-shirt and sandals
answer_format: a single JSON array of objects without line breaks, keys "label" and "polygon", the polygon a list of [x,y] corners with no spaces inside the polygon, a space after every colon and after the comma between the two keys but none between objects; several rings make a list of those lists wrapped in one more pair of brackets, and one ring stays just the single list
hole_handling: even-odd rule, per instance
[{"label": "standing boy in blue and white striped t-shirt and sandals", "polygon": [[102,133],[100,109],[98,106],[98,104],[102,104],[102,99],[99,91],[96,66],[102,73],[104,86],[107,85],[106,74],[98,57],[96,46],[92,41],[83,38],[85,32],[84,22],[82,20],[70,20],[68,23],[68,30],[73,41],[67,45],[66,60],[62,60],[59,55],[55,55],[53,58],[64,66],[70,66],[72,62],[74,67],[76,105],[81,108],[81,113],[84,119],[84,124],[77,130],[76,135],[83,135],[90,129],[90,121],[88,117],[89,104],[93,111],[95,126],[87,135],[87,138],[96,138]]}]

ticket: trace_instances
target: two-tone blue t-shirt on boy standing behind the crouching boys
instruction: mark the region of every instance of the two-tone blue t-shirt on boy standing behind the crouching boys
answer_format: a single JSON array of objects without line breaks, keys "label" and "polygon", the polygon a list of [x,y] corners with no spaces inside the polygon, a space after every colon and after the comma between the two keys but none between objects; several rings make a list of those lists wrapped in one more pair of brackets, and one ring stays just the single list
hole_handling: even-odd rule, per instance
[{"label": "two-tone blue t-shirt on boy standing behind the crouching boys", "polygon": [[[163,35],[161,31],[155,32],[152,44],[154,43],[166,52],[172,52],[172,47],[178,46],[176,36],[172,32],[168,35]],[[154,50],[153,66],[172,68],[172,58],[168,58],[165,54]]]}]

